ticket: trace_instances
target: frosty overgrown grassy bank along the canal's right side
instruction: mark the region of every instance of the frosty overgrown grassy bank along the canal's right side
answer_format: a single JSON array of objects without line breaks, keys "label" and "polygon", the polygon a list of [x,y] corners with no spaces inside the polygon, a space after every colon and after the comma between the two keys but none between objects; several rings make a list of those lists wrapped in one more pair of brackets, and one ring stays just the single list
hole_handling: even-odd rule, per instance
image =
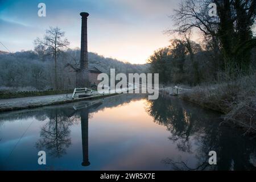
[{"label": "frosty overgrown grassy bank along the canal's right side", "polygon": [[201,85],[180,94],[180,98],[208,109],[220,111],[226,122],[256,134],[255,76],[233,81]]}]

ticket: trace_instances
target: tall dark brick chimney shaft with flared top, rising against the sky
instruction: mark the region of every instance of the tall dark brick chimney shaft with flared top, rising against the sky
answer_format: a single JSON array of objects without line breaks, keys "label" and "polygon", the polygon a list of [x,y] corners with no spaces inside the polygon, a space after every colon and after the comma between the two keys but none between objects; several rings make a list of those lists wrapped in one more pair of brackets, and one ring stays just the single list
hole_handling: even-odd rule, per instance
[{"label": "tall dark brick chimney shaft with flared top, rising against the sky", "polygon": [[88,69],[87,17],[89,13],[82,12],[80,15],[82,16],[80,69],[84,71]]}]

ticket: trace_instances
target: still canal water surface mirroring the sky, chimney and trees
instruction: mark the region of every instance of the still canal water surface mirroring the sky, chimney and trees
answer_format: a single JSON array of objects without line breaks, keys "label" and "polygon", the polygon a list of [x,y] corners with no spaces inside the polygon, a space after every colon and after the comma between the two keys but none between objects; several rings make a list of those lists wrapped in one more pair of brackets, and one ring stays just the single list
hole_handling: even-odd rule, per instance
[{"label": "still canal water surface mirroring the sky, chimney and trees", "polygon": [[[0,114],[0,169],[255,169],[255,140],[220,126],[220,115],[212,111],[175,97],[148,101],[133,94],[84,109],[88,104]],[[38,164],[40,150],[47,165]],[[210,166],[212,150],[217,165]]]}]

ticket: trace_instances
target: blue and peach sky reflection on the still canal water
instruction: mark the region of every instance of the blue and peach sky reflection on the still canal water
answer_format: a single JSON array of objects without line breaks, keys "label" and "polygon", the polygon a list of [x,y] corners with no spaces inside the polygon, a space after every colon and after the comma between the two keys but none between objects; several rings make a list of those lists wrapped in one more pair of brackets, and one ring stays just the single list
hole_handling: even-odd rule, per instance
[{"label": "blue and peach sky reflection on the still canal water", "polygon": [[[116,99],[118,99],[118,97],[116,97]],[[158,122],[154,122],[154,117],[147,111],[147,100],[144,98],[141,100],[132,100],[130,102],[128,101],[128,104],[117,104],[118,106],[112,106],[109,101],[109,99],[105,99],[101,106],[89,111],[88,142],[90,166],[87,167],[81,166],[83,155],[80,111],[75,112],[75,110],[72,109],[72,105],[61,107],[56,112],[55,109],[60,106],[48,108],[49,111],[52,111],[53,116],[54,113],[58,112],[59,116],[63,116],[64,114],[68,115],[69,112],[75,112],[75,114],[69,114],[69,117],[74,118],[75,115],[76,118],[73,119],[71,125],[67,125],[67,136],[65,136],[71,139],[71,144],[63,147],[65,150],[63,154],[57,157],[49,154],[49,148],[46,149],[44,147],[44,149],[42,149],[47,153],[46,166],[38,165],[37,154],[39,148],[36,147],[36,143],[43,138],[42,135],[40,135],[42,134],[43,127],[45,127],[47,131],[50,131],[48,130],[49,125],[47,124],[49,124],[49,117],[51,117],[52,113],[47,115],[48,118],[46,115],[42,115],[44,116],[41,119],[42,121],[36,118],[40,118],[40,112],[47,109],[47,107],[38,112],[35,111],[32,114],[28,114],[27,117],[23,119],[1,119],[0,115],[0,122],[2,122],[0,124],[1,169],[168,170],[171,169],[170,164],[164,164],[162,162],[162,160],[166,158],[174,159],[177,162],[182,160],[186,162],[188,166],[196,167],[202,158],[200,150],[204,150],[204,147],[207,148],[205,139],[208,140],[210,138],[212,140],[213,138],[210,136],[203,137],[205,136],[204,126],[200,126],[202,128],[198,130],[196,128],[196,130],[194,128],[190,130],[190,125],[188,127],[186,126],[184,133],[188,133],[188,131],[191,132],[191,135],[188,135],[188,140],[191,146],[190,151],[192,152],[189,153],[186,150],[181,151],[177,147],[177,144],[182,139],[177,138],[177,140],[174,140],[174,138],[176,133],[180,130],[179,127],[182,128],[184,126],[175,126],[175,133],[174,130],[170,129],[172,127],[170,127],[168,123],[159,125]],[[125,99],[123,101],[125,101]],[[119,102],[122,103],[123,101]],[[157,103],[155,103],[155,105],[156,104]],[[176,105],[177,108],[180,106],[179,102],[174,102],[174,105]],[[190,107],[184,108],[180,107],[179,110],[182,115],[181,118],[184,118],[184,123],[192,123],[193,115],[189,113],[192,112],[189,110]],[[61,111],[63,111],[62,115]],[[200,110],[200,112],[203,112],[203,110]],[[24,113],[23,114],[26,115],[26,111],[24,111]],[[164,113],[160,114],[162,114],[161,117],[164,116]],[[195,113],[194,115],[196,114],[198,115],[199,113]],[[15,114],[10,113],[10,115]],[[208,115],[208,113],[202,114],[201,117],[205,115],[209,118],[218,117],[216,114]],[[198,122],[198,118],[196,118],[195,125],[201,125],[200,122],[196,124]],[[58,123],[58,127],[61,127],[60,124],[61,122]],[[168,131],[167,128],[169,128],[171,132]],[[180,136],[184,135],[184,133],[180,134]],[[20,139],[20,137],[22,138]],[[214,135],[214,137],[216,136]],[[172,140],[170,138],[172,138]],[[199,156],[199,158],[197,158],[197,156]]]}]

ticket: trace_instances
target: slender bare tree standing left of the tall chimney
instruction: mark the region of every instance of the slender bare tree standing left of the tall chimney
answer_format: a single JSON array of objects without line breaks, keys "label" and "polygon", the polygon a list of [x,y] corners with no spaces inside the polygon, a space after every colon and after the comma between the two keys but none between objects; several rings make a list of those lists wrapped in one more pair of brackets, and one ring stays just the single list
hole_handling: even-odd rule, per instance
[{"label": "slender bare tree standing left of the tall chimney", "polygon": [[45,47],[45,50],[54,57],[55,61],[55,89],[57,89],[57,56],[61,52],[61,48],[68,46],[69,42],[64,38],[65,33],[58,27],[49,27],[43,39],[37,38],[35,45]]}]

